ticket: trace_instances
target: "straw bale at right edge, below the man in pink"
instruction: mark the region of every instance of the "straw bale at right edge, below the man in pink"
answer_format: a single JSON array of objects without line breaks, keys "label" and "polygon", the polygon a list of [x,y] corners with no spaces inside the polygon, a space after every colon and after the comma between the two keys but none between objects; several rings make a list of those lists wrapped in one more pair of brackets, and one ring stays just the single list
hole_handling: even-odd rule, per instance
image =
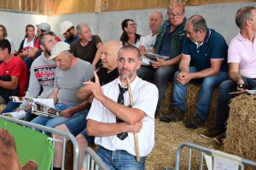
[{"label": "straw bale at right edge, below the man in pink", "polygon": [[254,95],[241,94],[231,99],[227,138],[224,139],[225,152],[252,161],[256,161],[255,106]]}]

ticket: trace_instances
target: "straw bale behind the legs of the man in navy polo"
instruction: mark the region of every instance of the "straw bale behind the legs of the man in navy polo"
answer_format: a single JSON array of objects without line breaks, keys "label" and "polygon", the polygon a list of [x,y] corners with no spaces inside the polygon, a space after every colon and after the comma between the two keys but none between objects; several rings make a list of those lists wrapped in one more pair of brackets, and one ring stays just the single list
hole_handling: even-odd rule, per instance
[{"label": "straw bale behind the legs of the man in navy polo", "polygon": [[[161,102],[160,115],[168,115],[171,112],[171,104],[172,104],[172,82],[168,83],[168,88],[166,89],[166,94]],[[195,115],[196,104],[198,102],[198,97],[200,93],[200,86],[196,86],[194,84],[189,84],[187,88],[187,94],[185,99],[185,104],[187,107],[187,111],[185,114],[184,122],[189,122],[192,120]],[[212,103],[209,108],[209,117],[206,123],[207,129],[214,126],[214,116],[217,107],[217,99],[218,99],[218,88],[215,88],[212,94]]]}]

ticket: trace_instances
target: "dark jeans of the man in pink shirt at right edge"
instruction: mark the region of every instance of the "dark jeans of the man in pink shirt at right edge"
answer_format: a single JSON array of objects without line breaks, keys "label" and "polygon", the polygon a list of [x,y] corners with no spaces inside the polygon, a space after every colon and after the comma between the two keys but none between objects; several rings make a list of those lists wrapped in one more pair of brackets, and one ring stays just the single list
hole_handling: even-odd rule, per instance
[{"label": "dark jeans of the man in pink shirt at right edge", "polygon": [[[243,82],[249,87],[250,90],[256,90],[256,78],[247,78],[241,77]],[[219,86],[218,91],[218,102],[217,102],[217,111],[215,114],[215,124],[225,131],[225,123],[230,116],[230,99],[232,95],[230,92],[237,91],[237,83],[231,80],[226,80],[222,82]]]}]

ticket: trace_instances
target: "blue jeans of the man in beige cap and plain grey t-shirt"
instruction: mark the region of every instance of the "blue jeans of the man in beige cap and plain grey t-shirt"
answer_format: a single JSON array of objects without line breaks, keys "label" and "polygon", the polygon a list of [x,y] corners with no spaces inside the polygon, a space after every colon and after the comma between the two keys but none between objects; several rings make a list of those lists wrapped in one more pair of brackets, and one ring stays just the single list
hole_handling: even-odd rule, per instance
[{"label": "blue jeans of the man in beige cap and plain grey t-shirt", "polygon": [[[75,105],[65,105],[65,104],[62,104],[62,103],[57,103],[55,105],[55,109],[58,110],[58,111],[64,111],[68,108],[71,108]],[[36,118],[34,118],[32,120],[33,123],[36,123],[36,124],[39,124],[39,125],[44,125],[46,127],[56,127],[60,124],[63,124],[64,122],[67,122],[69,120],[71,120],[73,117],[76,117],[76,116],[80,116],[82,114],[86,114],[87,113],[87,110],[84,111],[79,111],[78,113],[75,113],[71,118],[68,118],[68,117],[62,117],[62,116],[59,116],[59,117],[48,117],[48,116],[37,116]],[[32,127],[29,127],[29,128],[32,128]],[[39,129],[36,129],[36,131],[38,132],[42,132],[41,130]],[[49,135],[50,133],[48,132],[45,132],[45,134]]]}]

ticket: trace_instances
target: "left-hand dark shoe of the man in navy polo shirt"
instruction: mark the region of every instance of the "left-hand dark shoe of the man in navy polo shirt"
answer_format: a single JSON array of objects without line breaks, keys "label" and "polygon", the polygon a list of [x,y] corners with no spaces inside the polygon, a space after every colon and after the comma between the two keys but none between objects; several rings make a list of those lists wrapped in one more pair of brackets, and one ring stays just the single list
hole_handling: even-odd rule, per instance
[{"label": "left-hand dark shoe of the man in navy polo shirt", "polygon": [[177,121],[183,121],[185,117],[185,111],[180,109],[177,105],[174,105],[172,107],[172,113],[167,116],[160,116],[161,122],[177,122]]}]

